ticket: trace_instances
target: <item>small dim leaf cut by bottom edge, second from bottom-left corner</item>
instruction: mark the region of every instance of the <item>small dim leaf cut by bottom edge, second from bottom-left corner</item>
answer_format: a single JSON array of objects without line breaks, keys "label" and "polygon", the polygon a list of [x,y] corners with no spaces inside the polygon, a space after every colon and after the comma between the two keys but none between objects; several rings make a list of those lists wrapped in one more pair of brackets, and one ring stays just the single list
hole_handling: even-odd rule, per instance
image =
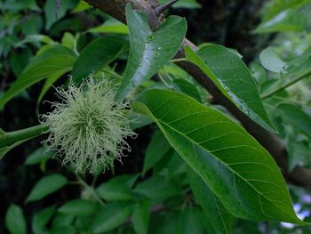
[{"label": "small dim leaf cut by bottom edge, second from bottom-left corner", "polygon": [[36,213],[31,223],[31,229],[35,234],[47,233],[45,225],[51,220],[55,213],[55,207],[50,206]]}]

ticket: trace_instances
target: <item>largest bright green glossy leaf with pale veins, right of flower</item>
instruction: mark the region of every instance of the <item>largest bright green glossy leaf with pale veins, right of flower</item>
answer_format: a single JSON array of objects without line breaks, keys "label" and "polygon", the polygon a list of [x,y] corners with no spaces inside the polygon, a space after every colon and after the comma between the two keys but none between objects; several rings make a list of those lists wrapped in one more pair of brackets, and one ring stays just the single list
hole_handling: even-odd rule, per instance
[{"label": "largest bright green glossy leaf with pale veins, right of flower", "polygon": [[171,146],[226,209],[254,221],[303,224],[273,158],[218,110],[172,91],[148,90],[132,109],[152,117]]}]

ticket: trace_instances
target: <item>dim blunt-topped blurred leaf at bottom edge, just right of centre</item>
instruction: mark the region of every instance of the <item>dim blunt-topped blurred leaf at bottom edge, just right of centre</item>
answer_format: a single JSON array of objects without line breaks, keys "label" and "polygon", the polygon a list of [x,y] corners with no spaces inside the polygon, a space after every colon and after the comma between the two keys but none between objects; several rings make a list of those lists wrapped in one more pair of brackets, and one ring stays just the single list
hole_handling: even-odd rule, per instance
[{"label": "dim blunt-topped blurred leaf at bottom edge, just right of centre", "polygon": [[186,208],[179,216],[180,234],[205,233],[203,214],[196,208]]}]

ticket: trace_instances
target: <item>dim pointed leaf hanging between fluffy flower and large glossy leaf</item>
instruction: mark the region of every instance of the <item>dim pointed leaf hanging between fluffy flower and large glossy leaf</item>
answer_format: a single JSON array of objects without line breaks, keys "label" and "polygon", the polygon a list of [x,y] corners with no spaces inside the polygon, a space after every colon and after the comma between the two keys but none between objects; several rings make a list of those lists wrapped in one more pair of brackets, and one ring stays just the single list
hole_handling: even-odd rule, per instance
[{"label": "dim pointed leaf hanging between fluffy flower and large glossy leaf", "polygon": [[146,157],[142,166],[142,174],[144,175],[149,169],[156,165],[171,149],[171,145],[160,131],[156,132],[146,149]]}]

